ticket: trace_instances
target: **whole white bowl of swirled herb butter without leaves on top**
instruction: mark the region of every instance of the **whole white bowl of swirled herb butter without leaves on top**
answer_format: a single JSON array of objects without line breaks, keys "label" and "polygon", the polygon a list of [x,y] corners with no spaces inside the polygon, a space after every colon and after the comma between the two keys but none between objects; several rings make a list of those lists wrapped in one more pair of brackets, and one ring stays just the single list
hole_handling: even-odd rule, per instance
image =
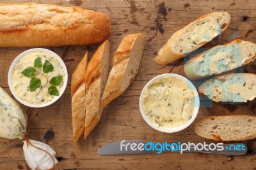
[{"label": "whole white bowl of swirled herb butter without leaves on top", "polygon": [[165,73],[154,77],[140,95],[140,111],[152,128],[179,132],[191,125],[199,110],[195,86],[185,77]]}]

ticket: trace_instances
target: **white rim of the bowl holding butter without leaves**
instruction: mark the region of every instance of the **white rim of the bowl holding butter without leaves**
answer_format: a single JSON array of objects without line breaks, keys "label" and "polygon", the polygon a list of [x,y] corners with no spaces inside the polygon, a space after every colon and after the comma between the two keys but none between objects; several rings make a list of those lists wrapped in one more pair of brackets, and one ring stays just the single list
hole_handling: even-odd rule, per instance
[{"label": "white rim of the bowl holding butter without leaves", "polygon": [[[176,77],[179,79],[182,79],[182,81],[186,81],[188,84],[189,89],[192,89],[195,95],[195,107],[193,110],[193,115],[192,118],[186,122],[184,125],[181,125],[180,127],[175,127],[175,128],[168,128],[168,127],[158,127],[156,124],[152,123],[146,116],[145,112],[143,111],[143,95],[145,93],[145,89],[148,88],[148,86],[150,86],[156,79],[159,79],[161,77]],[[193,123],[193,121],[195,120],[198,111],[199,111],[199,106],[200,106],[200,100],[199,100],[199,96],[198,96],[198,92],[196,91],[195,86],[192,84],[192,82],[190,82],[188,79],[186,79],[185,77],[179,75],[179,74],[175,74],[175,73],[164,73],[161,75],[157,75],[156,77],[154,77],[152,80],[150,80],[146,86],[143,88],[143,90],[141,91],[141,95],[140,95],[140,112],[141,115],[143,117],[143,119],[148,123],[148,125],[150,125],[150,127],[160,131],[160,132],[165,132],[165,133],[173,133],[173,132],[179,132],[181,130],[184,130],[185,128],[187,128],[189,125],[191,125],[191,123]]]}]

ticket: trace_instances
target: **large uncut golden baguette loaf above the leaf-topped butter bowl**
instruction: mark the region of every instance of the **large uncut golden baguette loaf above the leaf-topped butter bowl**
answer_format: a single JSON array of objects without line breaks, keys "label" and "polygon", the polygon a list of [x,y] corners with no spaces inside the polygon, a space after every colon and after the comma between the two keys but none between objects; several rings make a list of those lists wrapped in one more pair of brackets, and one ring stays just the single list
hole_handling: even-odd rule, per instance
[{"label": "large uncut golden baguette loaf above the leaf-topped butter bowl", "polygon": [[86,45],[110,35],[100,12],[52,4],[0,4],[0,47]]}]

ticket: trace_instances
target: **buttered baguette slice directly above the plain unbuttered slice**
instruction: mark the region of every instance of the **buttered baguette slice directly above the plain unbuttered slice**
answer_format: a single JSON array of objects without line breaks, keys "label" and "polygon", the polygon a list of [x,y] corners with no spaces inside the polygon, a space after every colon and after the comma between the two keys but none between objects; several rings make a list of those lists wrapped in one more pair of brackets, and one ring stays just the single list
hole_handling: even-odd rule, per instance
[{"label": "buttered baguette slice directly above the plain unbuttered slice", "polygon": [[247,102],[256,97],[256,75],[228,73],[209,79],[198,88],[214,102]]}]

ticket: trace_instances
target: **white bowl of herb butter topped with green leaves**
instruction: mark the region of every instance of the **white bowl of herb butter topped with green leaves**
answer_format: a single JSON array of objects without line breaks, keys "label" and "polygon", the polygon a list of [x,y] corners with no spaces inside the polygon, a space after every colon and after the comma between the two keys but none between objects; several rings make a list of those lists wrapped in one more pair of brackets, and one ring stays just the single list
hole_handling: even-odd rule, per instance
[{"label": "white bowl of herb butter topped with green leaves", "polygon": [[8,72],[13,96],[29,107],[56,102],[67,86],[68,73],[60,56],[47,49],[30,49],[14,59]]}]

